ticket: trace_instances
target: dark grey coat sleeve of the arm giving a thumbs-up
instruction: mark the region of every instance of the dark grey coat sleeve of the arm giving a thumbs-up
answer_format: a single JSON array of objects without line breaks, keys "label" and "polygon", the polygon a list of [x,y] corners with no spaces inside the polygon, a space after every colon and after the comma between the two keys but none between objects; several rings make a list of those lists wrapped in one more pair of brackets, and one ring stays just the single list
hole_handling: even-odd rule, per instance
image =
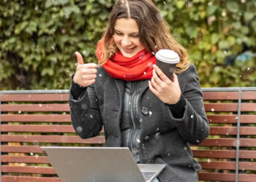
[{"label": "dark grey coat sleeve of the arm giving a thumbs-up", "polygon": [[80,87],[72,82],[69,92],[72,125],[80,138],[91,138],[102,130],[102,119],[94,85]]}]

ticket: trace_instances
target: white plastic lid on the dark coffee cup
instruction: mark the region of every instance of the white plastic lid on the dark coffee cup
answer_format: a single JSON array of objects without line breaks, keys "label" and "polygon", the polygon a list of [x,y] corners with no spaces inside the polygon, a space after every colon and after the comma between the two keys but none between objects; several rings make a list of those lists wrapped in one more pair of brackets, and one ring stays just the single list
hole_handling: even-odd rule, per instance
[{"label": "white plastic lid on the dark coffee cup", "polygon": [[159,50],[155,56],[164,63],[178,63],[180,61],[178,54],[173,50]]}]

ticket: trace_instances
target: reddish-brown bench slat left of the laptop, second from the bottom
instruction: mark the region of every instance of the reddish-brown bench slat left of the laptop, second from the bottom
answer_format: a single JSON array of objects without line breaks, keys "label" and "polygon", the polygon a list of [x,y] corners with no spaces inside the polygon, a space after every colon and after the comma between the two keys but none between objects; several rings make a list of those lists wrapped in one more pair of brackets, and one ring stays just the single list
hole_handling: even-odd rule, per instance
[{"label": "reddish-brown bench slat left of the laptop, second from the bottom", "polygon": [[56,174],[53,167],[33,167],[33,166],[8,166],[1,165],[2,173],[34,173],[34,174]]}]

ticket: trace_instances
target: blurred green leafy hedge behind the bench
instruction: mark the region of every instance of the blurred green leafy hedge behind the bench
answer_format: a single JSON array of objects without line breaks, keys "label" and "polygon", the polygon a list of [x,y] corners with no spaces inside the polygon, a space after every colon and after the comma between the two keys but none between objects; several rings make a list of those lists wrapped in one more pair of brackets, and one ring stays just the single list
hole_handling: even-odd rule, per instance
[{"label": "blurred green leafy hedge behind the bench", "polygon": [[[203,87],[256,86],[256,1],[154,0]],[[1,90],[68,89],[75,51],[95,49],[114,0],[2,0]]]}]

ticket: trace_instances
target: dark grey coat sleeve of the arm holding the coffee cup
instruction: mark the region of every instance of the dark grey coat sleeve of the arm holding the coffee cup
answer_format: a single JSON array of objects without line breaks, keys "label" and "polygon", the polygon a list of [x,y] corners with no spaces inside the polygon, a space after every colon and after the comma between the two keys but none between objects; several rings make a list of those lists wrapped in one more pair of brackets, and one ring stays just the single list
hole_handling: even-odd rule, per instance
[{"label": "dark grey coat sleeve of the arm holding the coffee cup", "polygon": [[[170,114],[176,127],[185,141],[193,144],[201,143],[208,136],[209,124],[203,105],[203,95],[195,66],[191,64],[186,73],[186,86],[181,97],[184,111],[181,118]],[[172,110],[173,106],[169,107]]]}]

